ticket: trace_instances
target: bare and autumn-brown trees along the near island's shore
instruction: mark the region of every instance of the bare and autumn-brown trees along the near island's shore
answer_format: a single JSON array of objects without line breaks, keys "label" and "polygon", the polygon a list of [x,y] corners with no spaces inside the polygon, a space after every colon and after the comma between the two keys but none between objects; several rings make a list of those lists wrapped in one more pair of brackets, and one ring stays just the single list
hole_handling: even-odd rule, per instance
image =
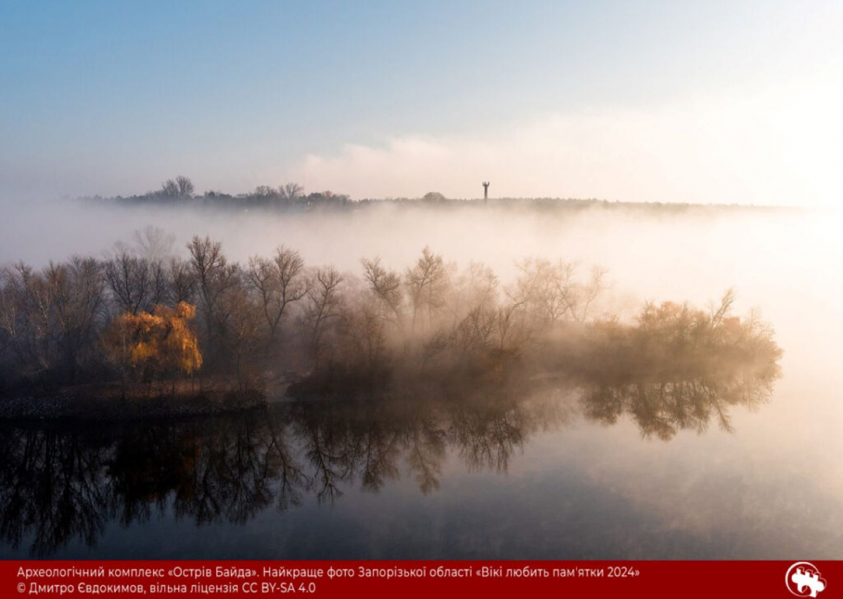
[{"label": "bare and autumn-brown trees along the near island's shore", "polygon": [[778,372],[771,328],[733,316],[731,291],[709,310],[647,303],[622,321],[601,304],[605,270],[558,259],[524,259],[503,285],[486,265],[460,269],[429,248],[404,270],[373,257],[350,273],[283,246],[239,264],[210,238],[194,237],[185,258],[173,243],[148,227],[108,259],[4,269],[0,390],[121,382],[124,394],[164,397],[198,376],[331,393],[513,373],[614,373],[617,385],[714,370],[738,385]]}]

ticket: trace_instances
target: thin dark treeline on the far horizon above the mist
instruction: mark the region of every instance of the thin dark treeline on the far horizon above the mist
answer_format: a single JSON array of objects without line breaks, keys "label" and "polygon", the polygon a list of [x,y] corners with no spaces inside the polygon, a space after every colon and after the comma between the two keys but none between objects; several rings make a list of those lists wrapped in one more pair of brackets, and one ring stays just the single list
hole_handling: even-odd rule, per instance
[{"label": "thin dark treeline on the far horizon above the mist", "polygon": [[[349,195],[332,191],[306,193],[302,185],[287,183],[279,186],[259,185],[253,191],[239,194],[226,194],[221,191],[207,190],[196,193],[193,182],[185,176],[167,179],[160,189],[139,195],[117,195],[102,197],[99,195],[80,198],[96,205],[106,206],[192,206],[197,208],[219,208],[226,210],[261,209],[282,212],[301,211],[349,211],[368,206],[494,206],[494,207],[529,207],[533,209],[583,210],[588,208],[632,208],[643,211],[681,212],[689,209],[733,209],[745,210],[748,206],[714,205],[659,202],[621,202],[599,199],[572,198],[483,198],[454,199],[432,191],[416,198],[367,198],[352,200]],[[753,209],[770,209],[753,206]]]}]

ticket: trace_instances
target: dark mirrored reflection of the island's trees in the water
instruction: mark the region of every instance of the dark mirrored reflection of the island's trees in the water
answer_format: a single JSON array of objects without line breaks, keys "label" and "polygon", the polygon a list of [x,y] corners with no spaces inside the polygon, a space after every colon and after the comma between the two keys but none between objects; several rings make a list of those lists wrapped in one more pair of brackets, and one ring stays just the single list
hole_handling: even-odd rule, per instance
[{"label": "dark mirrored reflection of the island's trees in the water", "polygon": [[348,484],[378,493],[402,476],[429,494],[448,456],[506,473],[534,433],[577,417],[610,425],[629,414],[643,435],[664,440],[710,421],[728,429],[730,409],[763,402],[776,378],[744,366],[412,385],[208,420],[4,425],[0,538],[48,557],[68,543],[94,546],[110,521],[244,524],[308,497],[336,502]]}]

